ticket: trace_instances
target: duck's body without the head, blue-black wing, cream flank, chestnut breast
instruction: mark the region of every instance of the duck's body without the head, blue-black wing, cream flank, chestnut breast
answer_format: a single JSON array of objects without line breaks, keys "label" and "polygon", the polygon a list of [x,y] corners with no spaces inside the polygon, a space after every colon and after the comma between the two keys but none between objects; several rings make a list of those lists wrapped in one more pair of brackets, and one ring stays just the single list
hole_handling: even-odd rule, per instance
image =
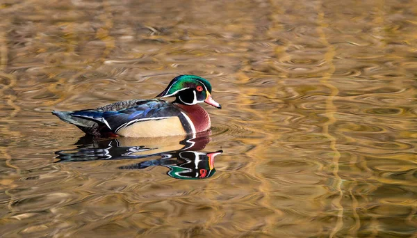
[{"label": "duck's body without the head, blue-black wing, cream flank, chestnut breast", "polygon": [[93,136],[158,137],[204,132],[211,127],[199,105],[183,106],[165,100],[129,100],[98,109],[54,114]]}]

